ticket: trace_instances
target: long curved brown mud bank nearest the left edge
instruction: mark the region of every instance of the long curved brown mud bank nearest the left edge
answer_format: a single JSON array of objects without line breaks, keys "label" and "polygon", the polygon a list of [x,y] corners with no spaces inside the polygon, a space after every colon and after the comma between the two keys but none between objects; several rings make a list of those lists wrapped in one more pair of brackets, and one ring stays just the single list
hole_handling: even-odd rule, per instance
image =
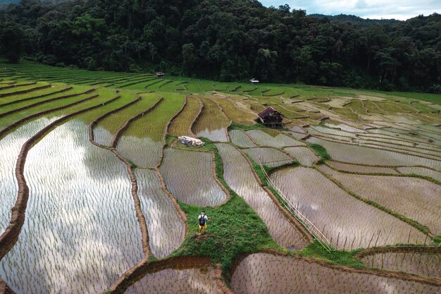
[{"label": "long curved brown mud bank nearest the left edge", "polygon": [[56,121],[49,123],[38,133],[30,137],[29,140],[23,144],[20,154],[18,155],[17,164],[15,166],[15,178],[17,178],[18,192],[17,200],[13,208],[11,209],[11,221],[9,226],[5,229],[4,233],[0,236],[0,260],[8,253],[9,250],[15,245],[20,235],[21,228],[25,223],[25,214],[27,207],[27,200],[29,198],[29,187],[27,186],[25,179],[25,162],[27,153],[35,145],[36,142],[42,139],[47,133],[49,133],[53,128],[55,128],[60,123],[68,121],[68,119],[73,118],[79,114],[83,114],[87,111],[97,109],[104,106],[107,103],[111,103],[118,99],[119,97],[108,100],[107,102],[97,104],[95,106],[88,107],[87,109],[82,109],[80,111],[75,111],[73,114],[68,114],[62,118],[58,118]]}]

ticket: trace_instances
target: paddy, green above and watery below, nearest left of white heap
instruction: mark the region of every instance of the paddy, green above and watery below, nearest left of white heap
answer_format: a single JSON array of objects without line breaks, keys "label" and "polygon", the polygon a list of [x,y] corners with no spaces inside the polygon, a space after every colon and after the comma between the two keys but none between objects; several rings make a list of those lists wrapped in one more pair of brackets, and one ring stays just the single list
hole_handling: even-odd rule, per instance
[{"label": "paddy, green above and watery below, nearest left of white heap", "polygon": [[156,108],[130,124],[116,149],[139,167],[155,167],[161,160],[168,121],[180,110],[184,98],[168,94]]}]

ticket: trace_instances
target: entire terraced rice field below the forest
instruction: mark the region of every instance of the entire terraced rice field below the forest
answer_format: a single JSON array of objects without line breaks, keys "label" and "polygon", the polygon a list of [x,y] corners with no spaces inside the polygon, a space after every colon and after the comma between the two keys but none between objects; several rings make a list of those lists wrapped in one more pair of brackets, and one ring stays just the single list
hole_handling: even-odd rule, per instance
[{"label": "entire terraced rice field below the forest", "polygon": [[441,293],[440,95],[0,79],[0,293]]}]

